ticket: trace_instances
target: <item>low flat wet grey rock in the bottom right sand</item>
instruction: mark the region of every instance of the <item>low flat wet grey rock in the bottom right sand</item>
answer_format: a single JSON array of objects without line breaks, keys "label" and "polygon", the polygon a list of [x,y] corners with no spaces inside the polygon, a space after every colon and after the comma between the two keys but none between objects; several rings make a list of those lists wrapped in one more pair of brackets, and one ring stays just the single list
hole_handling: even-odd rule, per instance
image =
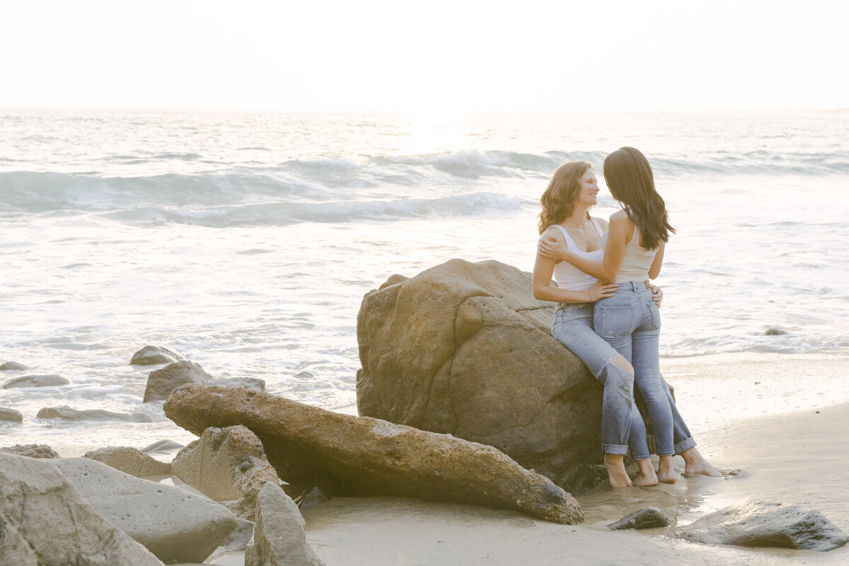
[{"label": "low flat wet grey rock in the bottom right sand", "polygon": [[778,546],[819,552],[843,546],[849,540],[823,513],[777,502],[726,507],[679,528],[677,533],[687,541],[706,544]]}]

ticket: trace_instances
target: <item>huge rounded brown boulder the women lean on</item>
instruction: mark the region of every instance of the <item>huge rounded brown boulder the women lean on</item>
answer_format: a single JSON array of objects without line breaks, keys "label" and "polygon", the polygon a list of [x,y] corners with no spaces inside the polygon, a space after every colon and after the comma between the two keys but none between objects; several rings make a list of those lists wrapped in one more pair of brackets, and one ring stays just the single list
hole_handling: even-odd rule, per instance
[{"label": "huge rounded brown boulder the women lean on", "polygon": [[551,335],[531,274],[451,260],[363,298],[361,415],[495,446],[572,492],[601,461],[602,388]]}]

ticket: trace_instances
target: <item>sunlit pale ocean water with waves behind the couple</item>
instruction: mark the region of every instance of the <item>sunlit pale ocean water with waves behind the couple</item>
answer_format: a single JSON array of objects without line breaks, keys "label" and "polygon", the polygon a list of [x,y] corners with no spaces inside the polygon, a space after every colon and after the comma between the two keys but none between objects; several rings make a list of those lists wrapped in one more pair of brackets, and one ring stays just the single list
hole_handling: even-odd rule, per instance
[{"label": "sunlit pale ocean water with waves behind the couple", "polygon": [[[31,368],[0,382],[71,381],[0,389],[25,419],[3,446],[175,438],[127,365],[148,344],[356,412],[363,294],[455,257],[531,271],[551,172],[622,145],[678,229],[661,356],[849,351],[846,114],[0,109],[0,132],[0,361]],[[59,405],[155,422],[35,420]]]}]

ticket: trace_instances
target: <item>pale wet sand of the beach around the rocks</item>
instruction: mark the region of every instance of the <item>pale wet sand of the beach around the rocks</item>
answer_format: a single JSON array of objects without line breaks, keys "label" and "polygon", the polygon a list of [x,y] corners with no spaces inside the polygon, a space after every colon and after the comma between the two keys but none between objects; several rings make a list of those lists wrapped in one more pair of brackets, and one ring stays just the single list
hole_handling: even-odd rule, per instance
[{"label": "pale wet sand of the beach around the rocks", "polygon": [[[328,566],[846,564],[849,546],[824,553],[702,546],[676,539],[674,526],[611,532],[606,524],[638,508],[655,506],[683,525],[728,505],[771,499],[818,509],[849,532],[849,404],[829,405],[825,395],[818,395],[828,391],[827,386],[816,379],[809,383],[803,379],[812,366],[836,366],[838,371],[847,365],[847,361],[834,359],[806,361],[804,356],[667,363],[664,372],[678,386],[679,404],[685,411],[689,406],[684,415],[694,417],[690,420],[698,428],[691,428],[702,453],[718,468],[740,471],[728,479],[682,477],[675,485],[653,488],[597,488],[579,497],[587,521],[577,526],[463,505],[335,498],[304,510],[307,537]],[[694,392],[686,387],[688,373],[715,374],[717,381],[713,387],[700,386]],[[760,385],[764,387],[756,389]],[[705,423],[717,423],[722,412],[699,413],[701,389],[711,398],[728,397],[729,413],[734,415],[731,422],[710,431],[703,428]],[[752,398],[747,401],[742,389],[754,390],[759,396],[749,395]],[[789,395],[790,389],[801,395]],[[738,413],[742,411],[737,407],[747,402],[754,414],[770,406],[773,411],[787,412],[741,420]],[[712,407],[711,413],[716,412],[716,401],[707,406]],[[676,459],[683,470],[683,461]]]}]

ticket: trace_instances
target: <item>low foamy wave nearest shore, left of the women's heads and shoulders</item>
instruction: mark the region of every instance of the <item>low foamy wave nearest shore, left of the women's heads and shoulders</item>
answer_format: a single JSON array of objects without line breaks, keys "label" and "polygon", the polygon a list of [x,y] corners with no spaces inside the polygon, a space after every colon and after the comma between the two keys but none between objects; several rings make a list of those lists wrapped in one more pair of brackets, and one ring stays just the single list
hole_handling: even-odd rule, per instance
[{"label": "low foamy wave nearest shore, left of the women's heads and shoulders", "polygon": [[523,199],[496,193],[469,193],[436,199],[274,202],[252,205],[179,209],[148,206],[104,216],[131,224],[178,223],[205,227],[287,226],[299,222],[392,221],[434,216],[485,216],[513,212]]}]

